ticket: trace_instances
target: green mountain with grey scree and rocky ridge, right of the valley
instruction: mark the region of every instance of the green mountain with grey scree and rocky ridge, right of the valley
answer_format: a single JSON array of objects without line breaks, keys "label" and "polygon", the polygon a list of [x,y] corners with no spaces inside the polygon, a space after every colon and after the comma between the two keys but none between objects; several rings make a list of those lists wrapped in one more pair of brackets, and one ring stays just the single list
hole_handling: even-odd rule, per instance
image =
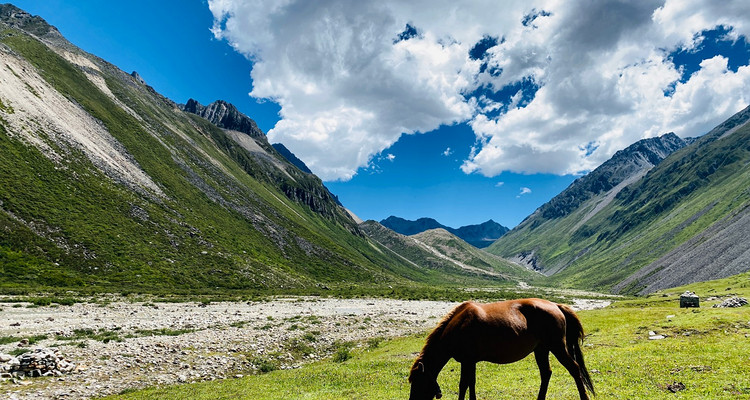
[{"label": "green mountain with grey scree and rocky ridge, right of the valley", "polygon": [[551,284],[621,293],[747,271],[748,120],[750,108],[696,140],[635,143],[487,250]]}]

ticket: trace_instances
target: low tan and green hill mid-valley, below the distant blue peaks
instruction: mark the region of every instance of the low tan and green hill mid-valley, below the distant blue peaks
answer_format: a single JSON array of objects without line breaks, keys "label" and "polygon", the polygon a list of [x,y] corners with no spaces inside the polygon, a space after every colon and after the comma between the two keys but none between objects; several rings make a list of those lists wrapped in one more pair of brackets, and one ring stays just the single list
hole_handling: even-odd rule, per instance
[{"label": "low tan and green hill mid-valley, below the distant blue peaks", "polygon": [[365,221],[360,228],[373,241],[393,251],[415,266],[451,273],[460,271],[492,281],[518,282],[538,277],[538,273],[489,254],[442,228],[405,236],[376,221]]}]

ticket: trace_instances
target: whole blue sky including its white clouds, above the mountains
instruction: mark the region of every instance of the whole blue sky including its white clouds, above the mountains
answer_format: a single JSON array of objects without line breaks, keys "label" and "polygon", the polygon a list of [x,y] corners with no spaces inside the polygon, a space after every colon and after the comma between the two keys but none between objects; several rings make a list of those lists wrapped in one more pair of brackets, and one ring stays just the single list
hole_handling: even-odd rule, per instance
[{"label": "whole blue sky including its white clouds, above the mountains", "polygon": [[745,107],[746,3],[14,2],[176,102],[235,104],[361,218],[454,227]]}]

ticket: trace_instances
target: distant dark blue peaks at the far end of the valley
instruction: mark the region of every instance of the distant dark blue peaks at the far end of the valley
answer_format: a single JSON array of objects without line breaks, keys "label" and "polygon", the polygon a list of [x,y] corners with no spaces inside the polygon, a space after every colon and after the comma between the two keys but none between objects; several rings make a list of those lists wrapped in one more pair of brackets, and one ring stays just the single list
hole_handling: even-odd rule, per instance
[{"label": "distant dark blue peaks at the far end of the valley", "polygon": [[485,248],[509,231],[508,228],[493,220],[478,224],[466,225],[458,229],[445,226],[432,218],[419,218],[416,221],[390,216],[380,223],[402,235],[416,235],[430,229],[445,229],[477,248]]}]

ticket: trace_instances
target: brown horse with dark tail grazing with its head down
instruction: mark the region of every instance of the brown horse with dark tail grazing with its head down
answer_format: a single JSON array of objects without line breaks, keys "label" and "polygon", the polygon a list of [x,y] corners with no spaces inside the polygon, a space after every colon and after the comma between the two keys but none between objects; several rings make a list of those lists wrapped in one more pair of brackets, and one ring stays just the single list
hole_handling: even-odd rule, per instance
[{"label": "brown horse with dark tail grazing with its head down", "polygon": [[491,304],[465,302],[453,309],[430,333],[409,374],[409,400],[442,397],[437,376],[448,360],[461,363],[458,398],[466,390],[476,400],[476,365],[479,361],[497,364],[516,362],[532,351],[539,366],[542,384],[537,399],[547,396],[552,370],[549,353],[573,376],[581,400],[588,400],[586,389],[594,394],[580,343],[583,327],[567,306],[542,299],[521,299]]}]

